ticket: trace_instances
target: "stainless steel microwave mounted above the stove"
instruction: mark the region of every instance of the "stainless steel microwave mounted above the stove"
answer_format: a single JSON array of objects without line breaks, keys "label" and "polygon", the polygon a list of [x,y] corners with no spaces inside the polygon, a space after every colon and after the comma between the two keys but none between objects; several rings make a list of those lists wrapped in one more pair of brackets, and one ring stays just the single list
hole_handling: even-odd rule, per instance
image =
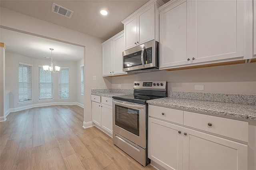
[{"label": "stainless steel microwave mounted above the stove", "polygon": [[123,52],[123,71],[145,73],[159,70],[159,42],[152,40]]}]

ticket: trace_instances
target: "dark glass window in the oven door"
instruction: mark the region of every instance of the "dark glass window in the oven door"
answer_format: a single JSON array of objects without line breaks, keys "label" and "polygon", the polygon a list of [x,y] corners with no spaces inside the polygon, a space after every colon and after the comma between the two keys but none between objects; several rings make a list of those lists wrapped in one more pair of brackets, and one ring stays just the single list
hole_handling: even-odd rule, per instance
[{"label": "dark glass window in the oven door", "polygon": [[115,106],[115,124],[137,136],[140,136],[139,110]]}]

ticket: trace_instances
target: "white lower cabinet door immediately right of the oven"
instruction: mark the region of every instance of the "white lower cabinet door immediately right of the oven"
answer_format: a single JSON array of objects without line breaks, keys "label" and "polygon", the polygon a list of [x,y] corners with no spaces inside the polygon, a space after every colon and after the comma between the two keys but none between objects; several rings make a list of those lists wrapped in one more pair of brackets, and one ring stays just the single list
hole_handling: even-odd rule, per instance
[{"label": "white lower cabinet door immediately right of the oven", "polygon": [[151,117],[148,121],[148,158],[168,170],[182,170],[182,127]]}]

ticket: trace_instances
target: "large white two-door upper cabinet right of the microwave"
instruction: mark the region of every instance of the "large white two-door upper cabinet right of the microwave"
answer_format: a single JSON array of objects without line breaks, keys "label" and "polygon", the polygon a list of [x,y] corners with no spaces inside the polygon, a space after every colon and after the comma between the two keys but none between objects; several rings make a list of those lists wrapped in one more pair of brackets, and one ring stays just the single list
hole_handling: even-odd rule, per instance
[{"label": "large white two-door upper cabinet right of the microwave", "polygon": [[160,69],[252,58],[246,0],[169,1],[160,11]]}]

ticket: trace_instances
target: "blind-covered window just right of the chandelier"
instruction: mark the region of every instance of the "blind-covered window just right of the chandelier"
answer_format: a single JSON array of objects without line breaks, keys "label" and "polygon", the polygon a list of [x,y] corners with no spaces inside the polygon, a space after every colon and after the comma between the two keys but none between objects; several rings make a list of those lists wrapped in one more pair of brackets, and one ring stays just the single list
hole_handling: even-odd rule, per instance
[{"label": "blind-covered window just right of the chandelier", "polygon": [[68,68],[60,68],[59,73],[59,97],[60,99],[69,98],[69,84],[68,84]]}]

